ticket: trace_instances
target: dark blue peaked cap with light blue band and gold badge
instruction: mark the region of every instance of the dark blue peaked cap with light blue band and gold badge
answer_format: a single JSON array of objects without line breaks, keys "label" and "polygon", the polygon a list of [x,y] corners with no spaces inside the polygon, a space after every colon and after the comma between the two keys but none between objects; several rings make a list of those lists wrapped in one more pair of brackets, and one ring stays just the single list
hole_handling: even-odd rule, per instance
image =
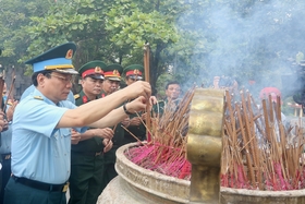
[{"label": "dark blue peaked cap with light blue band and gold badge", "polygon": [[74,43],[66,43],[27,60],[25,63],[32,64],[34,72],[50,70],[64,74],[78,74],[72,64],[75,50],[76,45]]}]

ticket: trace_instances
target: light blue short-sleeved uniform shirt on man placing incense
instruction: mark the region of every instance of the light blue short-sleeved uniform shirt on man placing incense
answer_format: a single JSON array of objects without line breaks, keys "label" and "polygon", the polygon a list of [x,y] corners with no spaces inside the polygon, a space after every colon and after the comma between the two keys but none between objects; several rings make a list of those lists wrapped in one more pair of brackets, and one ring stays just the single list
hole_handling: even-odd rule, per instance
[{"label": "light blue short-sleeved uniform shirt on man placing incense", "polygon": [[[35,88],[16,106],[12,135],[12,173],[40,182],[61,184],[70,177],[71,129],[57,129],[68,100],[54,104]],[[87,128],[74,128],[85,132]]]}]

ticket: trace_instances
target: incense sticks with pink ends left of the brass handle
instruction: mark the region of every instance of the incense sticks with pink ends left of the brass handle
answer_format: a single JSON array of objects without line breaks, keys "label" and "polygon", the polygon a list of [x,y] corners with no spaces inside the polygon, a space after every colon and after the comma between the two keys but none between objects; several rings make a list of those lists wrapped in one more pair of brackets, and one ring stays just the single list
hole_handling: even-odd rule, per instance
[{"label": "incense sticks with pink ends left of the brass handle", "polygon": [[175,108],[166,105],[162,115],[157,112],[151,117],[151,141],[127,149],[125,155],[130,160],[167,176],[186,180],[191,178],[191,164],[186,160],[185,147],[194,92],[195,87],[192,87]]}]

